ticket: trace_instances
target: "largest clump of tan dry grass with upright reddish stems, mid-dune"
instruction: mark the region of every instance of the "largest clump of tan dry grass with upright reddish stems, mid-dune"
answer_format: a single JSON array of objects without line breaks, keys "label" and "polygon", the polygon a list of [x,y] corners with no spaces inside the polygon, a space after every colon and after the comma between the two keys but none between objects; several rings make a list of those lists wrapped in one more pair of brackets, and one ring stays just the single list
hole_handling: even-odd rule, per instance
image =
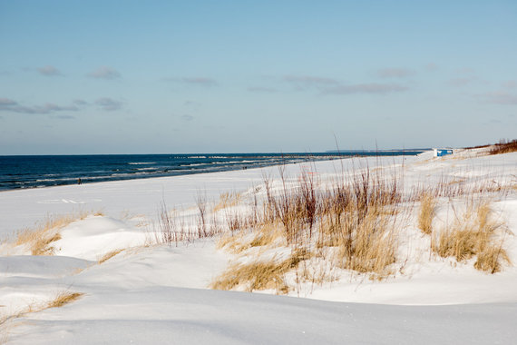
[{"label": "largest clump of tan dry grass with upright reddish stems, mid-dune", "polygon": [[[292,289],[292,280],[285,280],[285,276],[296,275],[296,284],[322,284],[335,280],[330,272],[336,268],[378,279],[392,274],[391,265],[397,260],[396,205],[402,201],[396,178],[372,176],[366,168],[323,189],[314,174],[302,172],[292,181],[280,170],[278,184],[273,189],[273,183],[265,178],[262,211],[255,207],[249,212],[253,219],[243,222],[253,225],[237,233],[230,229],[231,236],[219,240],[219,248],[242,258],[254,257],[254,261],[230,265],[212,287],[285,292]],[[271,250],[299,253],[300,248],[304,248],[303,255],[296,255],[296,260],[261,257]],[[300,262],[302,270],[298,270]]]}]

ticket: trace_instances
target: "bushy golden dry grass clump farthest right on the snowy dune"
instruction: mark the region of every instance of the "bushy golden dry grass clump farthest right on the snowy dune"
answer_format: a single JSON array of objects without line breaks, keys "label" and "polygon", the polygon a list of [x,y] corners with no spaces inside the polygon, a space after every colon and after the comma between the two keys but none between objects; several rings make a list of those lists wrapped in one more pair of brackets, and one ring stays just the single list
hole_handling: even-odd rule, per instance
[{"label": "bushy golden dry grass clump farthest right on the snowy dune", "polygon": [[468,202],[466,210],[454,223],[434,234],[431,249],[439,256],[466,261],[474,256],[474,268],[495,273],[501,271],[502,262],[511,263],[502,248],[507,231],[504,223],[493,217],[488,202]]}]

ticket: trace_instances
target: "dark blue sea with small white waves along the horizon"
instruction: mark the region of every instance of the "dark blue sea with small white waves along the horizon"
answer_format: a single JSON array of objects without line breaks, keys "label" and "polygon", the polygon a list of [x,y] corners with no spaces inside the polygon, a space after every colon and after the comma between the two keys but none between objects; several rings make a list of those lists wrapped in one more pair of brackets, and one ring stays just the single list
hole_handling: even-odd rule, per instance
[{"label": "dark blue sea with small white waves along the horizon", "polygon": [[327,153],[95,154],[0,156],[0,192],[65,184],[214,173],[352,156],[414,155],[421,151]]}]

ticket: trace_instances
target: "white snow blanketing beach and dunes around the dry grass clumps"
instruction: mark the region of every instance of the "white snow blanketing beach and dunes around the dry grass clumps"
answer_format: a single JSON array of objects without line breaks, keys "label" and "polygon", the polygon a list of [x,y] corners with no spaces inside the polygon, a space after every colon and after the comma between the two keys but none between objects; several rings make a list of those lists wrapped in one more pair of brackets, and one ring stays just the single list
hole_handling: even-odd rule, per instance
[{"label": "white snow blanketing beach and dunes around the dry grass clumps", "polygon": [[[309,170],[325,183],[365,166],[403,169],[408,186],[460,178],[517,185],[517,153],[472,151],[289,164],[286,175],[296,181],[302,169]],[[222,192],[241,192],[246,200],[256,187],[264,192],[260,185],[267,175],[278,185],[278,168],[268,167],[0,192],[0,238],[7,239],[0,244],[0,320],[62,291],[84,293],[61,308],[5,322],[0,343],[4,334],[9,344],[514,342],[517,268],[506,265],[487,274],[476,271],[472,260],[430,259],[429,239],[415,227],[401,236],[407,263],[395,276],[370,281],[340,274],[339,281],[290,296],[209,290],[235,259],[216,248],[215,238],[151,245],[162,202],[190,224],[199,195],[217,203]],[[438,222],[447,222],[447,202],[441,203]],[[517,191],[494,199],[493,208],[517,233]],[[16,231],[49,214],[80,211],[103,215],[66,225],[53,243],[54,256],[33,256],[9,244]],[[505,243],[517,262],[515,236]],[[122,251],[98,263],[116,250]]]}]

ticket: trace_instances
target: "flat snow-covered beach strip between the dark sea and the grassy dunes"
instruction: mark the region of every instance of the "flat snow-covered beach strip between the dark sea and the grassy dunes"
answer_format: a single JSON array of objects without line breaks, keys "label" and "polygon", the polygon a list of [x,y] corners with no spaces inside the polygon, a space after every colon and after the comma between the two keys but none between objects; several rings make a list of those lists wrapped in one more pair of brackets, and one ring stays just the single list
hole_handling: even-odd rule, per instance
[{"label": "flat snow-covered beach strip between the dark sea and the grassy dunes", "polygon": [[[358,160],[368,166],[392,164],[395,161],[417,159],[418,156],[361,157],[325,160],[309,163],[290,163],[286,166],[289,177],[298,176],[301,165],[314,164],[317,173],[339,173],[346,162]],[[102,209],[104,212],[120,214],[125,211],[139,212],[155,217],[160,202],[169,207],[191,207],[195,205],[198,192],[205,192],[210,200],[218,200],[222,192],[242,191],[263,182],[264,174],[278,176],[278,165],[232,170],[213,173],[193,173],[177,176],[150,177],[108,182],[92,182],[43,188],[26,188],[0,192],[0,236],[34,225],[49,214],[66,214],[77,209]],[[124,197],[124,195],[127,195]],[[152,202],[150,201],[152,199]],[[31,199],[33,204],[29,215],[18,210],[13,199],[22,202]],[[26,202],[26,201],[25,201]]]}]

